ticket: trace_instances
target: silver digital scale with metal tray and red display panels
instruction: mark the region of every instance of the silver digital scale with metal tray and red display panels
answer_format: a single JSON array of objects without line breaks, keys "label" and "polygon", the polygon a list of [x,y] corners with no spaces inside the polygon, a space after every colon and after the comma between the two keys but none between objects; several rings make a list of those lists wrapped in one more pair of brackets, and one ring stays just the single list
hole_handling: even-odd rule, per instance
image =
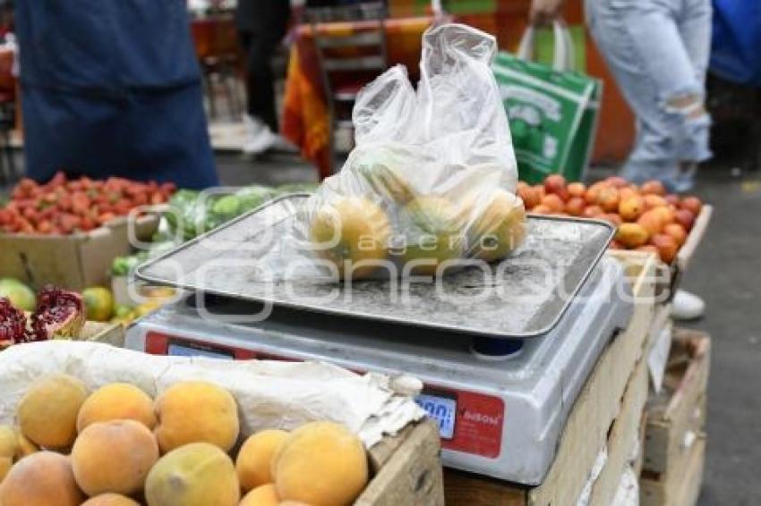
[{"label": "silver digital scale with metal tray and red display panels", "polygon": [[[448,276],[440,291],[433,283],[407,287],[413,293],[405,300],[381,280],[355,282],[350,300],[338,297],[329,305],[311,292],[324,295],[325,287],[310,283],[297,286],[298,300],[282,287],[262,295],[249,264],[236,271],[230,257],[251,259],[266,250],[244,245],[256,242],[262,228],[286,226],[300,198],[275,201],[141,266],[142,279],[191,295],[130,327],[126,346],[158,355],[321,360],[360,372],[414,375],[424,384],[418,403],[439,423],[444,465],[540,484],[586,377],[631,316],[623,269],[603,257],[609,225],[532,216],[534,239],[506,265],[493,266],[491,277],[466,269]],[[219,248],[218,238],[240,247]],[[225,261],[216,262],[220,258]],[[536,284],[548,265],[554,274],[544,276],[552,278],[553,290],[521,299],[526,279]],[[484,287],[503,290],[484,295]],[[335,283],[331,288],[342,294]],[[268,317],[260,321],[238,321],[265,309]]]}]

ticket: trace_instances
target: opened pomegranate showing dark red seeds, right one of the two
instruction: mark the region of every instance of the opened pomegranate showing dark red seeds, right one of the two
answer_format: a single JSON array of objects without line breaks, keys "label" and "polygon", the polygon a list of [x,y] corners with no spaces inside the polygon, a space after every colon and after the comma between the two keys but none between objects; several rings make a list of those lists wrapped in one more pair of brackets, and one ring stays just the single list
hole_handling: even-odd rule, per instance
[{"label": "opened pomegranate showing dark red seeds, right one of the two", "polygon": [[74,337],[81,332],[87,309],[79,293],[47,286],[37,296],[31,316],[30,341]]}]

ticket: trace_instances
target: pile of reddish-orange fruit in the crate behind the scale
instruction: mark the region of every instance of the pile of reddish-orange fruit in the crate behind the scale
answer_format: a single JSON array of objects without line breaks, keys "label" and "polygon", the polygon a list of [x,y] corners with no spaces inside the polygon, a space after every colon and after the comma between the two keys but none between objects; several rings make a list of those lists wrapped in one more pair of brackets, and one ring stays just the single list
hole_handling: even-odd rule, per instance
[{"label": "pile of reddish-orange fruit in the crate behind the scale", "polygon": [[671,264],[687,240],[703,203],[697,197],[667,194],[660,181],[641,186],[619,176],[591,186],[567,182],[560,174],[543,184],[518,183],[518,196],[526,209],[539,215],[594,218],[618,227],[612,249],[640,249],[657,253]]}]

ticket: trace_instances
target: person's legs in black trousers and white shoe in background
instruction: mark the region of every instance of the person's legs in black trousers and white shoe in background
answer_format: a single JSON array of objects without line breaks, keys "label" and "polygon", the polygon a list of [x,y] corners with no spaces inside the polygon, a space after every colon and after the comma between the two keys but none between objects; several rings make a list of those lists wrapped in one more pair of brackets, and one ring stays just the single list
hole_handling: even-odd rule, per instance
[{"label": "person's legs in black trousers and white shoe in background", "polygon": [[244,153],[262,153],[281,142],[270,61],[286,35],[290,12],[288,0],[238,0],[235,21],[246,63]]}]

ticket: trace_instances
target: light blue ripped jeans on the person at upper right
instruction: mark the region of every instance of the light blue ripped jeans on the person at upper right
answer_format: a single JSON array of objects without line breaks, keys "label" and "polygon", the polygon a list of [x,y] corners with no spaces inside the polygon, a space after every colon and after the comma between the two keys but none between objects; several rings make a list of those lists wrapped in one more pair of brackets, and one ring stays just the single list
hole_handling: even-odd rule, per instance
[{"label": "light blue ripped jeans on the person at upper right", "polygon": [[637,139],[622,169],[628,180],[692,186],[711,157],[705,70],[710,0],[586,0],[594,40],[637,116]]}]

